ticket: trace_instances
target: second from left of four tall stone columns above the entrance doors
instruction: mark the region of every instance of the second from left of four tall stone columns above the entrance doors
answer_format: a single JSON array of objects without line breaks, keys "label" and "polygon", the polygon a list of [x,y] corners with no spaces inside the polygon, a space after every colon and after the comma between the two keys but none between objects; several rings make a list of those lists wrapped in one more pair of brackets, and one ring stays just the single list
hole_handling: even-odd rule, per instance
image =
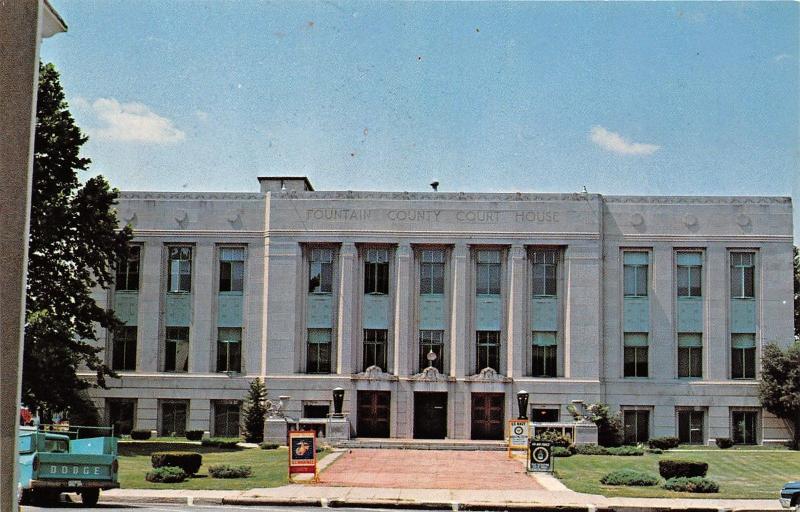
[{"label": "second from left of four tall stone columns above the entrance doors", "polygon": [[395,375],[408,375],[412,354],[411,304],[413,303],[411,285],[412,251],[408,242],[397,246],[397,281],[394,290],[394,370]]}]

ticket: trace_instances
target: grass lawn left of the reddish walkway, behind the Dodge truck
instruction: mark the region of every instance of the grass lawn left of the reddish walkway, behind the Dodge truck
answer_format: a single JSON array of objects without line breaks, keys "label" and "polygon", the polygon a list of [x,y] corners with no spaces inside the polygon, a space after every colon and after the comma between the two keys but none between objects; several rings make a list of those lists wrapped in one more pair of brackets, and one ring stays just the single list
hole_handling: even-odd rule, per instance
[{"label": "grass lawn left of the reddish walkway, behind the Dodge truck", "polygon": [[[203,465],[193,478],[177,484],[151,483],[144,479],[145,473],[152,469],[150,455],[128,455],[119,457],[119,482],[123,489],[210,489],[245,490],[256,487],[277,487],[288,483],[288,458],[286,448],[262,450],[243,448],[240,450],[219,450],[201,446],[184,448],[203,454]],[[329,451],[317,454],[320,459]],[[253,474],[249,478],[221,479],[208,476],[208,467],[214,464],[250,466]]]}]

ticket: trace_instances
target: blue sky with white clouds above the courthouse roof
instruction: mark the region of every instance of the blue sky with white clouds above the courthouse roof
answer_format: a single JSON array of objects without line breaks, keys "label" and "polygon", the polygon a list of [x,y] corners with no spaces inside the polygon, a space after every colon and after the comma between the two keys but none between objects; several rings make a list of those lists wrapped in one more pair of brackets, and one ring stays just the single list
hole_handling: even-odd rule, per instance
[{"label": "blue sky with white clouds above the courthouse roof", "polygon": [[[51,0],[123,190],[791,195],[797,3]],[[800,209],[800,208],[798,208]],[[800,220],[795,217],[795,237]]]}]

